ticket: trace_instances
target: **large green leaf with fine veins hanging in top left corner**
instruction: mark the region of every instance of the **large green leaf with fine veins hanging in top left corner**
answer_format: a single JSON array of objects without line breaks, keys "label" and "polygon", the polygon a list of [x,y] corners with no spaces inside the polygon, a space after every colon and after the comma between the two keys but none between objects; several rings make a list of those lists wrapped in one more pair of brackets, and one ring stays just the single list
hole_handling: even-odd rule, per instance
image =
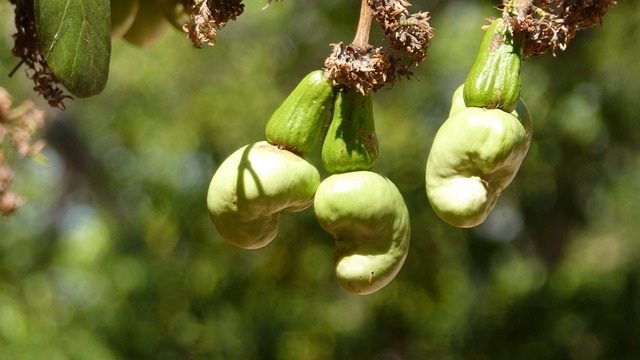
[{"label": "large green leaf with fine veins hanging in top left corner", "polygon": [[109,77],[109,0],[35,0],[42,53],[67,90],[97,95]]}]

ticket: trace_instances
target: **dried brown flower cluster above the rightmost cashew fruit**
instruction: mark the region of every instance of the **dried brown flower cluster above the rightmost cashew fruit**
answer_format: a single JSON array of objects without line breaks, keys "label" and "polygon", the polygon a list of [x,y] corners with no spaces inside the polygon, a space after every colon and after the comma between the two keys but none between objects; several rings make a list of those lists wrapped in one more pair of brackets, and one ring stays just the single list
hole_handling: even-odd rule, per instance
[{"label": "dried brown flower cluster above the rightmost cashew fruit", "polygon": [[[527,1],[524,1],[527,3]],[[505,1],[503,17],[514,31],[525,33],[523,57],[531,58],[551,50],[565,50],[580,30],[602,24],[602,18],[615,0],[539,0]],[[526,9],[524,9],[526,7]],[[526,11],[525,11],[526,10]]]}]

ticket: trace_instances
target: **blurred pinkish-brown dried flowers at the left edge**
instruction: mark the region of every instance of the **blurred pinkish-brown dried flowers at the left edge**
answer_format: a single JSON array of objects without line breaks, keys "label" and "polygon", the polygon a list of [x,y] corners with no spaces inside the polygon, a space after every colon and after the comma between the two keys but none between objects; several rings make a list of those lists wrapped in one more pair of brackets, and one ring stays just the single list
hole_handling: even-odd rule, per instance
[{"label": "blurred pinkish-brown dried flowers at the left edge", "polygon": [[11,96],[0,87],[0,214],[9,215],[23,202],[11,191],[13,170],[7,163],[4,140],[20,157],[34,156],[44,147],[44,141],[32,141],[31,137],[44,124],[44,112],[26,101],[11,108]]}]

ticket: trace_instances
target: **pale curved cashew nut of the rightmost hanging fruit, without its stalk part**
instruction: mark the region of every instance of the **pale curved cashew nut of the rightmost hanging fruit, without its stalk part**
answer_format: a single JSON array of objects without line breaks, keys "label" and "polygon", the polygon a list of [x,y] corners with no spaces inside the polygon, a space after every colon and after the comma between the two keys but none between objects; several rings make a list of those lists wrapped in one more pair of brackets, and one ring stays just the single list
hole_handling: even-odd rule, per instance
[{"label": "pale curved cashew nut of the rightmost hanging fruit, without its stalk part", "polygon": [[481,224],[516,176],[530,143],[528,112],[521,121],[499,109],[454,111],[427,160],[426,190],[436,214],[457,227]]}]

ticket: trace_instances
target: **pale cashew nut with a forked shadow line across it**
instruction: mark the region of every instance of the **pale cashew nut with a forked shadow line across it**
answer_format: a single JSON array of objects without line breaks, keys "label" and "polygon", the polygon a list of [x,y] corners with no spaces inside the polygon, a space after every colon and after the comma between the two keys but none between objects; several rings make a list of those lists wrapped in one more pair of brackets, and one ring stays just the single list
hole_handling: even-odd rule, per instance
[{"label": "pale cashew nut with a forked shadow line across it", "polygon": [[233,245],[257,249],[278,233],[281,212],[313,204],[318,170],[301,157],[266,141],[231,154],[213,175],[207,195],[209,216]]}]

